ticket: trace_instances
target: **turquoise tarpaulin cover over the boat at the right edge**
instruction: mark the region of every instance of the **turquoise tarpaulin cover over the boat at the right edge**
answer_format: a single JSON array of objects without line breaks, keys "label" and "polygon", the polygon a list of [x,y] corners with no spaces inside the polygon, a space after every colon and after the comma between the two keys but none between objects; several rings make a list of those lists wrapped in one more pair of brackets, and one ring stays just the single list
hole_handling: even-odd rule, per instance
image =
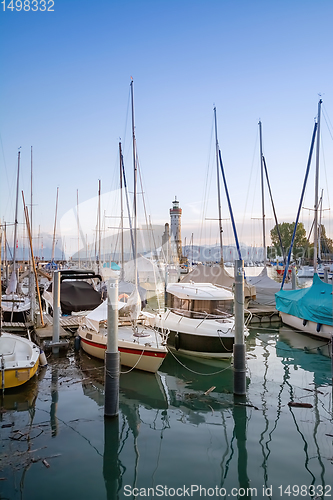
[{"label": "turquoise tarpaulin cover over the boat at the right edge", "polygon": [[314,321],[321,325],[332,325],[332,285],[324,283],[318,274],[313,276],[312,285],[298,290],[280,290],[275,294],[276,309]]}]

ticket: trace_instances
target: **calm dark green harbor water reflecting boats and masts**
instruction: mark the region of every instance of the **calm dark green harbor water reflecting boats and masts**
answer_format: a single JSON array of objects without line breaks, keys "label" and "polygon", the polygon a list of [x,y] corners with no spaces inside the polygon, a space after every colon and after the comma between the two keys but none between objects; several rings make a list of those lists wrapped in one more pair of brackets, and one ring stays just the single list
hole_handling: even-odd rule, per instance
[{"label": "calm dark green harbor water reflecting boats and masts", "polygon": [[113,419],[103,363],[50,355],[1,398],[1,500],[332,498],[329,346],[282,325],[246,344],[245,398],[232,362],[169,352],[156,375],[122,367]]}]

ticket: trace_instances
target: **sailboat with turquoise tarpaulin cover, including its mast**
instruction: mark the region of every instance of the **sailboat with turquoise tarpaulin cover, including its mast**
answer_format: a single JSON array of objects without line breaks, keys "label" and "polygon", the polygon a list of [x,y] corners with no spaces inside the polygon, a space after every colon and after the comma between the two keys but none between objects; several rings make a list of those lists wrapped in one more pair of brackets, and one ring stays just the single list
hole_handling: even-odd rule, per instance
[{"label": "sailboat with turquoise tarpaulin cover, including its mast", "polygon": [[[318,181],[319,181],[319,146],[320,146],[320,114],[321,114],[322,100],[318,103],[318,118],[315,124],[315,129],[311,144],[311,155],[315,136],[316,140],[316,176],[315,176],[315,203],[314,203],[314,276],[312,285],[308,288],[299,290],[281,290],[275,294],[276,296],[276,309],[280,312],[282,321],[299,331],[309,335],[330,339],[333,334],[333,320],[332,320],[332,285],[323,283],[317,273],[317,256],[318,256]],[[298,216],[300,207],[303,201],[303,194],[307,181],[307,176],[310,168],[311,155],[308,162],[308,168],[304,180],[303,192],[301,202],[298,209]],[[298,219],[297,216],[297,219]],[[295,229],[297,227],[297,219],[295,222]],[[295,233],[295,230],[294,230]],[[288,263],[291,254],[291,248],[288,255]],[[283,285],[283,283],[282,283]]]}]

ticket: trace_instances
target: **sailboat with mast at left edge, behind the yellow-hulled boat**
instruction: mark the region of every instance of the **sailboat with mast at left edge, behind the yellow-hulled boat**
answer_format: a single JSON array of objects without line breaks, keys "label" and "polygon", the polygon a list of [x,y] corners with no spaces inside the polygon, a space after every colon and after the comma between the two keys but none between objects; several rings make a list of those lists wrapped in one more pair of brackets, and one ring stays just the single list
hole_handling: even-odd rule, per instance
[{"label": "sailboat with mast at left edge, behind the yellow-hulled boat", "polygon": [[16,206],[15,206],[15,222],[14,222],[14,246],[13,246],[13,268],[6,289],[6,294],[2,296],[2,312],[3,320],[11,322],[25,322],[26,316],[30,312],[30,299],[26,295],[17,293],[18,283],[16,276],[16,242],[17,242],[17,217],[18,217],[18,196],[19,196],[19,179],[20,179],[20,158],[21,152],[18,152],[17,160],[17,181],[16,181]]}]

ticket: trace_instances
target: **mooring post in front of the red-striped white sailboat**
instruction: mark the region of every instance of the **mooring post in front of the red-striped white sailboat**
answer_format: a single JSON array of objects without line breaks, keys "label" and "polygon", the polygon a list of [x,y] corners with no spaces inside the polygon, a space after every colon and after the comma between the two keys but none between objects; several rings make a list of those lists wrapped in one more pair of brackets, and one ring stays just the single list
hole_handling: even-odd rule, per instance
[{"label": "mooring post in front of the red-striped white sailboat", "polygon": [[116,417],[119,411],[118,279],[108,281],[108,338],[105,352],[104,416]]}]

